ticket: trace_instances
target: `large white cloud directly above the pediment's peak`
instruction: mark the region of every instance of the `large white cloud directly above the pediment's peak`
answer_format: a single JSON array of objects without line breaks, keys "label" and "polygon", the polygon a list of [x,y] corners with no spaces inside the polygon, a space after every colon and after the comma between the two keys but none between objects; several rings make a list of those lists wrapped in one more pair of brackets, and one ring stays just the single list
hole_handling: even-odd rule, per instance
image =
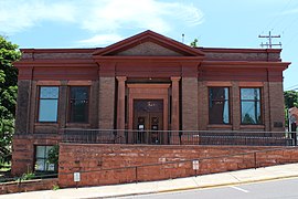
[{"label": "large white cloud directly above the pediment's peak", "polygon": [[116,31],[118,29],[151,29],[169,32],[175,24],[195,25],[202,22],[202,12],[192,4],[161,2],[157,0],[88,0],[92,7],[82,21],[89,31]]}]

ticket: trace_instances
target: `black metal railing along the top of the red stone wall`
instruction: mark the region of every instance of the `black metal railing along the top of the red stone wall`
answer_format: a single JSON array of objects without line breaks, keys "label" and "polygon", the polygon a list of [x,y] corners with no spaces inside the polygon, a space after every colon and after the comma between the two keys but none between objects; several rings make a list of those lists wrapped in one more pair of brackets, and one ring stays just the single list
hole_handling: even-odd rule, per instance
[{"label": "black metal railing along the top of the red stone wall", "polygon": [[66,128],[64,143],[294,146],[296,133],[236,130],[119,130]]}]

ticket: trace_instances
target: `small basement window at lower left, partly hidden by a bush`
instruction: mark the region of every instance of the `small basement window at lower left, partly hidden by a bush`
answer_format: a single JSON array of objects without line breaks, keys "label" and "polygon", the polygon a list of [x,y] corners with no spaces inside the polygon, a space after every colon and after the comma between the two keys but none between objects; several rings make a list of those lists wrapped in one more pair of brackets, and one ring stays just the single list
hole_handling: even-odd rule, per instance
[{"label": "small basement window at lower left, partly hidden by a bush", "polygon": [[36,171],[54,171],[55,165],[47,161],[49,150],[53,146],[35,147],[35,170]]}]

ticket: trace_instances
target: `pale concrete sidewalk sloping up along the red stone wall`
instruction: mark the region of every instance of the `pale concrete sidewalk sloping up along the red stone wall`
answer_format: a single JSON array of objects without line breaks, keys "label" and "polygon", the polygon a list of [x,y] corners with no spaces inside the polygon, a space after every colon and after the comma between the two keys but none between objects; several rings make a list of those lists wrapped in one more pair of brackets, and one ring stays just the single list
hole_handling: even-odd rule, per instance
[{"label": "pale concrete sidewalk sloping up along the red stone wall", "polygon": [[298,177],[298,164],[238,170],[162,181],[0,195],[2,198],[98,198],[157,193]]}]

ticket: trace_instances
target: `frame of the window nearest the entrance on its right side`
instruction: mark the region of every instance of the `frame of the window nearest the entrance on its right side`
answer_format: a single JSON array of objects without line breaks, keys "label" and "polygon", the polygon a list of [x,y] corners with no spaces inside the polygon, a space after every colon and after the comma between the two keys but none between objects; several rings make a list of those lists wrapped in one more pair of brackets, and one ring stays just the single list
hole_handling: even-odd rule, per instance
[{"label": "frame of the window nearest the entrance on its right side", "polygon": [[[210,113],[210,103],[211,102],[211,98],[210,98],[210,90],[211,88],[227,88],[227,93],[228,93],[228,97],[227,100],[212,100],[212,102],[227,102],[227,105],[228,105],[228,123],[224,123],[224,121],[222,123],[211,123],[211,113]],[[209,124],[210,125],[231,125],[232,122],[231,122],[231,86],[209,86],[207,87],[207,118],[209,118]]]}]

